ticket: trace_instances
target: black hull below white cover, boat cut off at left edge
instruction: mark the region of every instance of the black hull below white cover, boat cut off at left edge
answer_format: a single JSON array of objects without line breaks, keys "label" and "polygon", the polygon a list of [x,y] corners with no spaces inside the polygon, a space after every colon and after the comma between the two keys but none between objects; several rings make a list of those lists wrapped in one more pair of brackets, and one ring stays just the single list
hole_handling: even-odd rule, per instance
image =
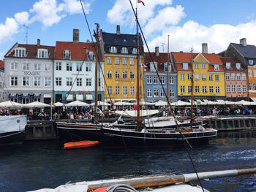
[{"label": "black hull below white cover, boat cut off at left edge", "polygon": [[0,146],[22,144],[26,137],[26,131],[12,131],[0,134]]}]

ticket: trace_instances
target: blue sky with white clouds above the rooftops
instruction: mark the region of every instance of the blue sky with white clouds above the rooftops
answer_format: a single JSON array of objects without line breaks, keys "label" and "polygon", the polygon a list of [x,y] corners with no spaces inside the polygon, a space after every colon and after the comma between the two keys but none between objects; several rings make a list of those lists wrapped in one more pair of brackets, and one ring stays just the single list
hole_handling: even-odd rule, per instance
[{"label": "blue sky with white clouds above the rooftops", "polygon": [[[136,7],[137,0],[131,0]],[[129,0],[82,0],[91,33],[95,23],[102,31],[135,34],[135,16]],[[159,47],[170,51],[219,53],[230,44],[246,38],[256,45],[255,0],[143,0],[138,19],[150,51]],[[56,41],[71,42],[72,29],[80,30],[80,42],[91,41],[79,0],[1,1],[0,59],[15,42],[54,46]],[[27,32],[27,33],[26,33]],[[145,43],[144,43],[145,45]],[[145,47],[145,50],[146,47]]]}]

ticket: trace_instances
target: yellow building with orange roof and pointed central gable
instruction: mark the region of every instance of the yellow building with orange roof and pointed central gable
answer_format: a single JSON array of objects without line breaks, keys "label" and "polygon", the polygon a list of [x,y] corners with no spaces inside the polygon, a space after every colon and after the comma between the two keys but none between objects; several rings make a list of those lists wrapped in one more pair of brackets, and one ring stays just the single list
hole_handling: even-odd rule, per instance
[{"label": "yellow building with orange roof and pointed central gable", "polygon": [[219,55],[172,53],[172,57],[178,75],[178,99],[188,101],[191,98],[191,63],[193,63],[194,99],[225,99],[225,72]]}]

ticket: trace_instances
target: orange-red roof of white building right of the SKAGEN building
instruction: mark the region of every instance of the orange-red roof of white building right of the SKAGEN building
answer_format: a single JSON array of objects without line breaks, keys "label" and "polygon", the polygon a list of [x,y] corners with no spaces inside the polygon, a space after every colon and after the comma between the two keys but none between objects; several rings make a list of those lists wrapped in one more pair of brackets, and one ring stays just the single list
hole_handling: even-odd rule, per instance
[{"label": "orange-red roof of white building right of the SKAGEN building", "polygon": [[[70,50],[72,60],[88,61],[87,50],[93,51],[94,55],[96,56],[94,43],[92,42],[56,42],[55,58],[64,59],[64,50]],[[102,56],[100,53],[99,60],[102,61]]]}]

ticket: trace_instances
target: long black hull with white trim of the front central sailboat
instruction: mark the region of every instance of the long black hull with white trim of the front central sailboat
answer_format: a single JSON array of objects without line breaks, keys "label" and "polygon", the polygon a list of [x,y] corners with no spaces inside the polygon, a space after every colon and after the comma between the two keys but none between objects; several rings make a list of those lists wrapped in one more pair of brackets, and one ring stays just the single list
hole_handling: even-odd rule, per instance
[{"label": "long black hull with white trim of the front central sailboat", "polygon": [[[184,140],[179,133],[142,133],[136,131],[118,131],[118,129],[103,128],[102,145],[108,148],[157,148],[183,146]],[[189,144],[200,145],[208,139],[216,137],[217,130],[183,133]]]}]

